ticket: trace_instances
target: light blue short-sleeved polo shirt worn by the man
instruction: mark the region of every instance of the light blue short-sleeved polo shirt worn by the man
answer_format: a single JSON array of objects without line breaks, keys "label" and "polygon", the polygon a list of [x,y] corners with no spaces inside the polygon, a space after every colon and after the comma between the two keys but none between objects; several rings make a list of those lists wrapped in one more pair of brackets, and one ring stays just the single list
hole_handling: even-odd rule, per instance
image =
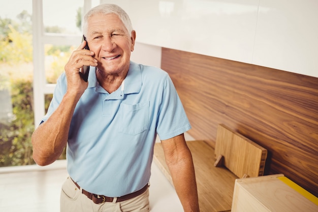
[{"label": "light blue short-sleeved polo shirt worn by the man", "polygon": [[[120,197],[149,181],[153,145],[190,129],[169,75],[131,62],[129,72],[109,94],[90,67],[88,87],[71,122],[67,147],[68,172],[84,190]],[[63,73],[43,121],[58,107],[67,89]]]}]

